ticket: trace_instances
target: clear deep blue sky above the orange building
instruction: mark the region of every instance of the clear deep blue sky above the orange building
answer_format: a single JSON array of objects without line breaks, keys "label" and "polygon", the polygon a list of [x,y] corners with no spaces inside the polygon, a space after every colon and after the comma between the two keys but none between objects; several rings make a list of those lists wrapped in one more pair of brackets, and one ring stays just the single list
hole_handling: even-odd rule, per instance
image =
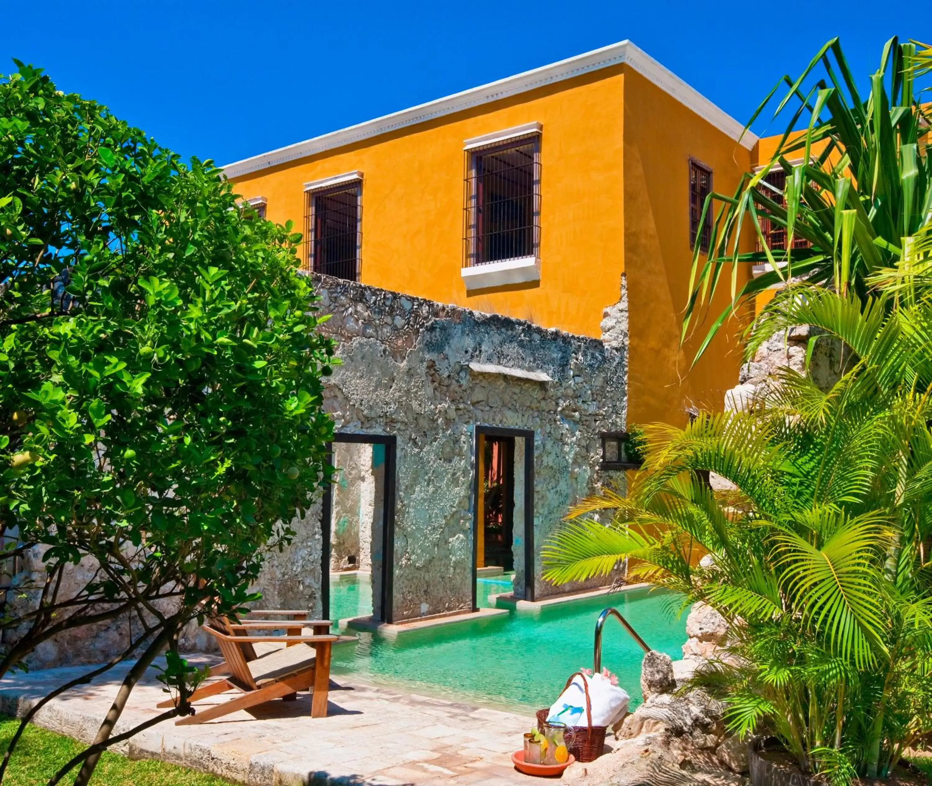
[{"label": "clear deep blue sky above the orange building", "polygon": [[32,62],[162,145],[225,164],[625,38],[745,122],[832,35],[862,80],[888,37],[932,39],[921,6],[34,0],[0,5],[0,73]]}]

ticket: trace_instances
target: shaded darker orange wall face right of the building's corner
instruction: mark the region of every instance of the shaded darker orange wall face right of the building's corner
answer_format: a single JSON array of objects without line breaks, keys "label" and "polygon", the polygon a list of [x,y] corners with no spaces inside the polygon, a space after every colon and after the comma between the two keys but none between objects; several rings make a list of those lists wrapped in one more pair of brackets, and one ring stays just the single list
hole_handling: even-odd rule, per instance
[{"label": "shaded darker orange wall face right of the building's corner", "polygon": [[[712,187],[731,194],[751,153],[643,76],[624,76],[624,260],[630,359],[628,421],[683,425],[687,407],[720,411],[737,384],[742,350],[732,320],[699,364],[692,359],[710,324],[730,300],[728,282],[710,316],[679,349],[689,296],[692,249],[690,158],[712,169]],[[705,257],[700,257],[705,263]],[[740,271],[738,286],[750,269]]]}]

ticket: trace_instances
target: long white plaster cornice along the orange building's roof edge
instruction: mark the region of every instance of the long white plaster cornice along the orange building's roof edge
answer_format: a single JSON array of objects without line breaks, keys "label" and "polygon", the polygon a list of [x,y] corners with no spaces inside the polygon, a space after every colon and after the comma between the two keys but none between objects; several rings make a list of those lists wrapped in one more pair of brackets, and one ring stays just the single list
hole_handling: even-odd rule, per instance
[{"label": "long white plaster cornice along the orange building's roof edge", "polygon": [[[389,131],[398,131],[431,120],[434,117],[452,115],[473,106],[500,101],[500,99],[518,93],[541,88],[545,85],[552,85],[556,82],[562,82],[564,79],[571,79],[574,76],[582,76],[592,71],[623,63],[630,65],[638,74],[650,79],[658,88],[665,90],[679,103],[692,109],[693,112],[705,118],[723,133],[728,134],[733,140],[737,141],[741,137],[741,132],[744,129],[741,123],[727,115],[697,90],[693,90],[682,79],[655,61],[646,52],[637,48],[630,41],[622,41],[618,44],[611,44],[608,47],[576,55],[567,60],[544,65],[523,74],[508,76],[496,82],[489,82],[487,85],[478,88],[463,90],[436,101],[421,103],[401,112],[394,112],[391,115],[367,120],[364,123],[349,126],[349,128],[341,131],[331,131],[321,136],[315,136],[305,142],[279,147],[277,150],[271,150],[249,159],[234,161],[226,164],[223,169],[227,177],[239,177],[249,172],[257,172],[295,159],[304,159],[326,150],[332,150],[335,147],[370,139]],[[757,136],[748,131],[741,138],[741,145],[749,150],[757,141]]]}]

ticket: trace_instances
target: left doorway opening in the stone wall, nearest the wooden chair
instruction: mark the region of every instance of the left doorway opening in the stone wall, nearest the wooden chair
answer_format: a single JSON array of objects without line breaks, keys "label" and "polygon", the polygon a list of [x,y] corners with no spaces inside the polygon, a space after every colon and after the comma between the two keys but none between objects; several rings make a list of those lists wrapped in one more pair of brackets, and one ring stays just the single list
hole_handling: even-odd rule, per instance
[{"label": "left doorway opening in the stone wall, nearest the wooden chair", "polygon": [[395,438],[334,434],[322,504],[323,617],[391,622]]}]

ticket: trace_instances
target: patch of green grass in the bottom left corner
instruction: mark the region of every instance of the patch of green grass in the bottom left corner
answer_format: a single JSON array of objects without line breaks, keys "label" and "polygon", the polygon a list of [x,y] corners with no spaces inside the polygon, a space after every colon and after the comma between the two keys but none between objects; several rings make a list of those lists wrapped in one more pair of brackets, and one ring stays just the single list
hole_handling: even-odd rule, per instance
[{"label": "patch of green grass in the bottom left corner", "polygon": [[[20,722],[0,715],[0,752],[7,751]],[[44,786],[60,766],[85,748],[74,739],[30,726],[9,763],[4,786]],[[71,783],[77,767],[62,783]],[[229,780],[204,775],[185,767],[156,761],[130,761],[117,753],[104,753],[94,771],[95,786],[231,786]]]}]

